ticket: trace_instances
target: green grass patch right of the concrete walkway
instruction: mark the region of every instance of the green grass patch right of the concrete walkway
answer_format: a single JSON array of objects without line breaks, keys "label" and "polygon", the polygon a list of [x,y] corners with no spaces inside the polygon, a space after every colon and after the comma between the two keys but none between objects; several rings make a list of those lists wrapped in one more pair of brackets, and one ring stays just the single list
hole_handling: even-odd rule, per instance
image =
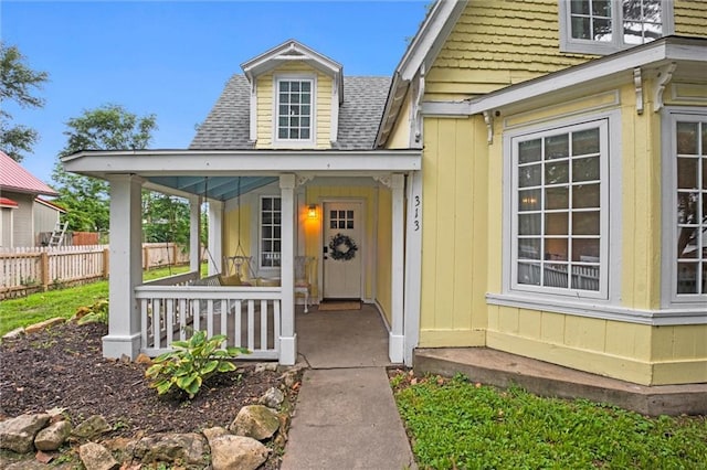
[{"label": "green grass patch right of the concrete walkway", "polygon": [[704,416],[648,418],[457,376],[391,380],[420,468],[704,469]]}]

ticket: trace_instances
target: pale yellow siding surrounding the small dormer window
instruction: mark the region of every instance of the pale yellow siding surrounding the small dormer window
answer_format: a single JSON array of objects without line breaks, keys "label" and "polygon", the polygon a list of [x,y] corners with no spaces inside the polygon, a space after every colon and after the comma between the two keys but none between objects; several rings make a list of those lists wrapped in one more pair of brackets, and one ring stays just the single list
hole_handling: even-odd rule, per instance
[{"label": "pale yellow siding surrounding the small dormer window", "polygon": [[302,62],[287,63],[274,68],[272,72],[261,75],[256,79],[257,87],[257,142],[256,148],[273,146],[275,113],[275,83],[277,74],[314,74],[316,78],[316,96],[314,98],[314,120],[316,128],[315,147],[318,149],[331,148],[329,129],[331,127],[331,86],[330,76],[308,66]]}]

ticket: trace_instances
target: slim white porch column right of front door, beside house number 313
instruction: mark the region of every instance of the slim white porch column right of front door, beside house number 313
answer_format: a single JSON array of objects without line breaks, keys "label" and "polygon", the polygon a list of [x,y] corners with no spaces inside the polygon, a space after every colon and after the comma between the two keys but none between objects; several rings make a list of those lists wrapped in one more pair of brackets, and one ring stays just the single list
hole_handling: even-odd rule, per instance
[{"label": "slim white porch column right of front door, beside house number 313", "polygon": [[404,333],[403,333],[403,295],[404,295],[404,246],[405,246],[405,223],[404,223],[404,189],[405,177],[392,174],[390,181],[392,191],[392,249],[391,249],[391,309],[392,324],[388,341],[388,356],[392,363],[403,362],[404,355]]}]

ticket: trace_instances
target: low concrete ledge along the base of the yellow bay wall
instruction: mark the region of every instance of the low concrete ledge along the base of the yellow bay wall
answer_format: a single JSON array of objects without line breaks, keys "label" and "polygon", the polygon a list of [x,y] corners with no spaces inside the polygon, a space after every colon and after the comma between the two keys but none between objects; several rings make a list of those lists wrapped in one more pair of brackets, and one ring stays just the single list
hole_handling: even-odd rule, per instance
[{"label": "low concrete ledge along the base of the yellow bay wall", "polygon": [[645,386],[609,378],[488,348],[418,349],[414,371],[453,376],[461,372],[474,382],[560,398],[588,398],[645,415],[707,414],[707,384]]}]

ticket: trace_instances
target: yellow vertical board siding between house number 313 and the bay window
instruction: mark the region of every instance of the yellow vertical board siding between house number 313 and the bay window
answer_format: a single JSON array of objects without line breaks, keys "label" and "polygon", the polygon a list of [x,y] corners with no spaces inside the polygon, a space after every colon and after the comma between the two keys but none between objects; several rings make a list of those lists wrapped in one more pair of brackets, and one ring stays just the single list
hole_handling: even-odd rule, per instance
[{"label": "yellow vertical board siding between house number 313 and the bay window", "polygon": [[485,135],[475,119],[425,119],[421,345],[478,345],[487,323]]}]

